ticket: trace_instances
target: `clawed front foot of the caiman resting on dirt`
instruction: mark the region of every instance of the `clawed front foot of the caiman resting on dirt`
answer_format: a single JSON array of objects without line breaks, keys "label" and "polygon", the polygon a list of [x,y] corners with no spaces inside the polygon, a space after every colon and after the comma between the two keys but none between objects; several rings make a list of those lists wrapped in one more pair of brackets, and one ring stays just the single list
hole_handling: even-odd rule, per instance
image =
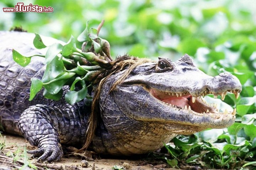
[{"label": "clawed front foot of the caiman resting on dirt", "polygon": [[47,162],[59,161],[63,157],[63,151],[61,145],[49,145],[44,144],[35,150],[27,151],[27,153],[32,154],[32,157],[39,157],[37,162]]}]

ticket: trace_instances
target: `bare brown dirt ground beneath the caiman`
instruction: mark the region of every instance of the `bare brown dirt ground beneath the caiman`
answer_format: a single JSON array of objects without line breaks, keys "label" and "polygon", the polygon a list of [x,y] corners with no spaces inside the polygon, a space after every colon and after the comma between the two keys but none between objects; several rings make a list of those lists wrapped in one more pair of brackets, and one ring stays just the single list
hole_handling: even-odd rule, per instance
[{"label": "bare brown dirt ground beneath the caiman", "polygon": [[[14,153],[17,151],[18,147],[24,148],[26,146],[27,150],[35,149],[32,147],[23,137],[12,136],[9,134],[2,134],[2,140],[0,138],[0,142],[4,141],[5,136],[5,145],[7,146],[4,149],[4,153],[11,151]],[[0,148],[1,150],[1,148]],[[28,154],[28,157],[31,157]],[[83,157],[84,159],[84,157]],[[126,167],[128,170],[176,170],[175,168],[168,168],[168,165],[162,160],[146,160],[142,159],[112,159],[112,158],[98,158],[94,160],[82,160],[82,164],[86,165],[88,163],[87,168],[83,168],[81,166],[81,157],[70,156],[64,157],[60,162],[57,163],[36,163],[36,159],[31,159],[31,162],[34,163],[38,167],[38,170],[44,169],[43,167],[47,167],[48,169],[56,169],[56,170],[109,170],[114,166],[122,166]],[[12,170],[18,169],[23,165],[23,160],[20,160],[13,163],[13,158],[6,157],[5,155],[0,155],[0,170]],[[163,168],[163,169],[161,169]],[[26,168],[25,170],[29,170]]]}]

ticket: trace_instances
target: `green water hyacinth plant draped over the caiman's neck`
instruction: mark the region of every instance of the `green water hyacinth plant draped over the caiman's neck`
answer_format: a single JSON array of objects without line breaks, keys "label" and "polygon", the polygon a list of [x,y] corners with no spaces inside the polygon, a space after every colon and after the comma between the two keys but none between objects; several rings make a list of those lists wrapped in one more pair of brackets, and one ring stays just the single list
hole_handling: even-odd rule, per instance
[{"label": "green water hyacinth plant draped over the caiman's neck", "polygon": [[[98,27],[98,30],[88,29],[87,22],[85,30],[79,35],[78,40],[84,42],[83,48],[86,48],[88,42],[92,43],[91,49],[87,49],[87,52],[83,51],[85,49],[76,48],[75,39],[71,35],[65,45],[54,43],[48,47],[46,55],[33,55],[45,57],[46,70],[42,80],[31,79],[30,101],[43,87],[43,95],[46,98],[60,100],[64,85],[70,86],[70,91],[65,94],[65,100],[69,104],[79,102],[86,97],[91,98],[87,93],[87,87],[97,83],[97,76],[114,64],[108,41],[98,37],[101,26]],[[35,35],[34,46],[37,49],[46,48],[40,35]],[[12,50],[12,54],[14,61],[23,67],[27,66],[33,57],[23,56],[16,50]],[[86,66],[88,62],[92,66]],[[76,90],[77,83],[80,83],[79,90]]]}]

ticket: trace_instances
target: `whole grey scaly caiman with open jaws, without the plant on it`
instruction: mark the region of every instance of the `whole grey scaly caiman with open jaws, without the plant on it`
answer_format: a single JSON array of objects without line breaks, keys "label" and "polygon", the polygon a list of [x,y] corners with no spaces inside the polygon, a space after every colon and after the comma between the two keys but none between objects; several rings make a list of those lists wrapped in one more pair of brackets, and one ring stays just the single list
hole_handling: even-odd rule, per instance
[{"label": "whole grey scaly caiman with open jaws, without the plant on it", "polygon": [[[64,99],[48,100],[39,92],[29,101],[31,78],[42,78],[42,57],[26,67],[12,60],[12,49],[25,56],[38,54],[34,34],[0,32],[0,124],[7,133],[23,135],[38,148],[28,151],[38,160],[58,161],[62,145],[82,146],[86,141],[91,102],[72,106]],[[45,40],[56,42],[52,38]],[[202,96],[236,97],[242,90],[229,73],[211,77],[199,70],[188,55],[177,61],[159,58],[133,68],[113,90],[113,84],[129,68],[110,75],[98,98],[98,124],[90,148],[100,154],[132,155],[155,151],[178,134],[188,135],[207,128],[225,128],[235,121],[236,110],[219,112]]]}]

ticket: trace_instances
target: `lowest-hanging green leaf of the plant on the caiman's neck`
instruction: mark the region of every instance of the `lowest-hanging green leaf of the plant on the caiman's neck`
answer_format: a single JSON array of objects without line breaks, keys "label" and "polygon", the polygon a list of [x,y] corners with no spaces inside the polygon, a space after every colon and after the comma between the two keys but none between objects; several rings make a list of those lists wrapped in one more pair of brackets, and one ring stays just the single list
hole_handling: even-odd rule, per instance
[{"label": "lowest-hanging green leaf of the plant on the caiman's neck", "polygon": [[74,104],[76,102],[79,102],[80,100],[84,99],[87,96],[87,87],[84,86],[79,91],[69,91],[65,95],[65,100],[69,104]]}]

